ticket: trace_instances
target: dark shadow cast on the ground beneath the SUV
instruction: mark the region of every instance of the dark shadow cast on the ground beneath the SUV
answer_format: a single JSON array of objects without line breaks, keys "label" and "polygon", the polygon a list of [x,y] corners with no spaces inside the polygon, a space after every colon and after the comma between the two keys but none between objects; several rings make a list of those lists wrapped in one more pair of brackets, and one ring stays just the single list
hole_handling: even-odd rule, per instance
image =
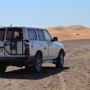
[{"label": "dark shadow cast on the ground beneath the SUV", "polygon": [[0,78],[6,79],[31,79],[38,80],[45,77],[49,77],[65,70],[70,69],[69,67],[64,67],[63,69],[57,69],[55,67],[43,67],[42,72],[35,73],[26,71],[25,69],[18,69],[10,72],[5,72],[4,74],[0,74]]}]

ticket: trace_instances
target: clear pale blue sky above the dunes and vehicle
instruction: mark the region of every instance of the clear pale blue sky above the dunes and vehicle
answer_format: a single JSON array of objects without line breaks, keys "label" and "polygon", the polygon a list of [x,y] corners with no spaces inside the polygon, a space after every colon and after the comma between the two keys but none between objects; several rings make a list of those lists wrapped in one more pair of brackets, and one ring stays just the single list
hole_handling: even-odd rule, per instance
[{"label": "clear pale blue sky above the dunes and vehicle", "polygon": [[90,0],[0,0],[0,25],[90,27]]}]

